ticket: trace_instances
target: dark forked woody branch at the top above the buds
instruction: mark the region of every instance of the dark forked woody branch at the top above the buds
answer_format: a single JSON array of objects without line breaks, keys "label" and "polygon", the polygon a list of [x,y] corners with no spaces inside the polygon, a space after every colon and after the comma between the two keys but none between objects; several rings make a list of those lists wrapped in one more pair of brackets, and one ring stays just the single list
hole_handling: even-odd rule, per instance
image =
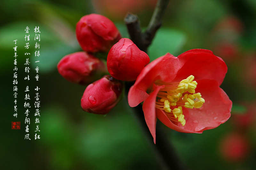
[{"label": "dark forked woody branch at the top above the buds", "polygon": [[169,0],[158,0],[155,10],[144,33],[141,32],[140,21],[136,15],[128,13],[124,19],[129,35],[133,43],[135,43],[140,50],[147,53],[148,46],[152,43],[156,35],[156,31],[162,25],[162,18],[167,8]]}]

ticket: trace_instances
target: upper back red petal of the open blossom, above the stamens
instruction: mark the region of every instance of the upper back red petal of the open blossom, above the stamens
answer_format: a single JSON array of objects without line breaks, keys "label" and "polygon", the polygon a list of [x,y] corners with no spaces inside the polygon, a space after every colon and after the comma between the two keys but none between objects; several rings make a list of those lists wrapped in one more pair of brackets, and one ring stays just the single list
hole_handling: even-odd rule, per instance
[{"label": "upper back red petal of the open blossom, above the stamens", "polygon": [[218,81],[220,86],[228,70],[225,62],[210,50],[188,50],[180,54],[178,58],[180,66],[175,81],[181,81],[189,75],[193,75],[196,81],[199,79],[213,79]]}]

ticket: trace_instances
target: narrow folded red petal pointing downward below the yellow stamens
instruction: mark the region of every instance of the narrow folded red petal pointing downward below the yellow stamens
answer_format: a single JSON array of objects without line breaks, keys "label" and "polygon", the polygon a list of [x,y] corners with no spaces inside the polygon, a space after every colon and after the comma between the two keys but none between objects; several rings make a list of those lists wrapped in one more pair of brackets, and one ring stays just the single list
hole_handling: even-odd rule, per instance
[{"label": "narrow folded red petal pointing downward below the yellow stamens", "polygon": [[150,96],[143,103],[142,109],[144,112],[145,120],[148,125],[149,131],[154,138],[156,144],[156,96],[163,86],[156,86],[156,89],[150,94]]}]

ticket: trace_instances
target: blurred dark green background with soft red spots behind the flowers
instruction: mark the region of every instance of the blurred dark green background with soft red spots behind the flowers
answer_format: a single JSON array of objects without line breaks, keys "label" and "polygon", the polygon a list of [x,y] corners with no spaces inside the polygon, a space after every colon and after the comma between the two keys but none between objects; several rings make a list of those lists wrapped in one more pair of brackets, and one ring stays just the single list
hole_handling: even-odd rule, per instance
[{"label": "blurred dark green background with soft red spots behind the flowers", "polygon": [[[0,169],[161,169],[151,147],[153,139],[149,141],[143,134],[126,97],[106,116],[84,112],[80,100],[85,86],[64,80],[56,67],[65,55],[81,51],[75,27],[82,16],[105,15],[128,38],[125,14],[137,14],[145,28],[155,4],[156,0],[0,2]],[[31,36],[36,26],[41,32],[41,56],[36,65],[40,68],[40,78],[29,83],[23,80],[25,49],[19,48],[25,44],[27,26]],[[18,118],[12,116],[13,40],[16,39]],[[160,121],[157,124],[163,126],[166,140],[191,170],[253,170],[256,168],[256,1],[170,0],[163,25],[148,51],[151,61],[166,52],[178,56],[195,48],[212,50],[228,65],[221,88],[233,101],[231,118],[203,134],[183,134],[166,128]],[[35,58],[31,57],[31,61]],[[34,66],[32,63],[31,67]],[[40,87],[41,138],[34,140],[36,124],[30,113],[29,141],[24,140],[23,89],[35,83]],[[30,96],[33,98],[34,94]],[[21,129],[12,130],[12,121],[20,121]]]}]

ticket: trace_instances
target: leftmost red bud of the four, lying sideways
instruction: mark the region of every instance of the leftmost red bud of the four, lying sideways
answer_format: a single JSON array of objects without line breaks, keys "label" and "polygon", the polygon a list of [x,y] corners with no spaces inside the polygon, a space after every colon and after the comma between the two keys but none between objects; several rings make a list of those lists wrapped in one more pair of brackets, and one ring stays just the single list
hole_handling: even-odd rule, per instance
[{"label": "leftmost red bud of the four, lying sideways", "polygon": [[107,72],[105,64],[87,52],[75,52],[63,57],[57,65],[58,71],[67,81],[87,85]]}]

